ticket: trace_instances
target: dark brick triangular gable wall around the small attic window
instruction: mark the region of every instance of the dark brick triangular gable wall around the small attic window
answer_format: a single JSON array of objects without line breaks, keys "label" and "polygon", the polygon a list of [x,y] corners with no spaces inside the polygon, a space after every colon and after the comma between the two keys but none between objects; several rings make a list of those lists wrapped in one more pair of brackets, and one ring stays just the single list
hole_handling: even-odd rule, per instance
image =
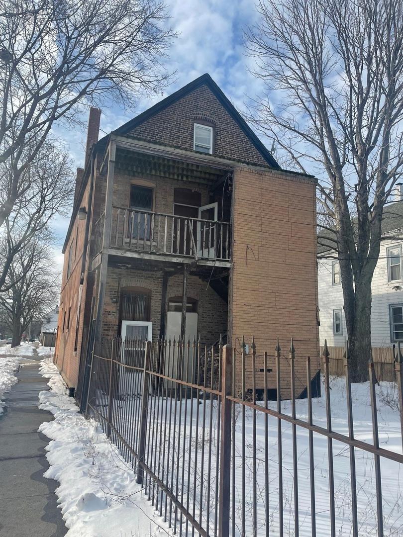
[{"label": "dark brick triangular gable wall around the small attic window", "polygon": [[133,129],[131,134],[150,142],[193,150],[193,125],[197,120],[213,126],[214,155],[267,164],[206,85],[157,113]]}]

